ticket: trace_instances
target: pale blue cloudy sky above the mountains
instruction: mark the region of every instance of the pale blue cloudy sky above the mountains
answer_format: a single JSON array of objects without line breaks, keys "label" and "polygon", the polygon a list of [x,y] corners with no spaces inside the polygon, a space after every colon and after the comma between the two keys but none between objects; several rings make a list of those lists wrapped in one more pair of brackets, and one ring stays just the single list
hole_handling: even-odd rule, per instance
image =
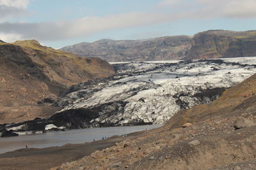
[{"label": "pale blue cloudy sky above the mountains", "polygon": [[209,29],[255,29],[256,0],[0,0],[0,39],[61,48]]}]

